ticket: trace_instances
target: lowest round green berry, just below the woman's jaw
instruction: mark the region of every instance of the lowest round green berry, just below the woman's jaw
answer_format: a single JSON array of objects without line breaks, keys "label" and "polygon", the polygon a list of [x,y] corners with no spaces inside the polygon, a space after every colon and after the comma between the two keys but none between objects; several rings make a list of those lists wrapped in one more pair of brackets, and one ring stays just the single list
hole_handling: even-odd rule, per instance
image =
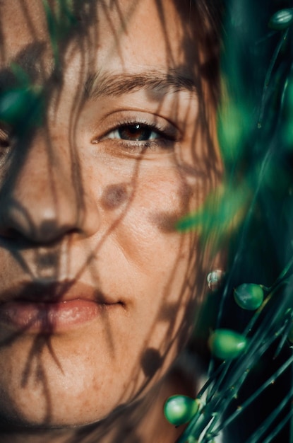
[{"label": "lowest round green berry, just below the woman's jaw", "polygon": [[189,422],[198,411],[199,402],[197,399],[187,396],[169,397],[164,405],[164,414],[168,422],[179,426]]}]

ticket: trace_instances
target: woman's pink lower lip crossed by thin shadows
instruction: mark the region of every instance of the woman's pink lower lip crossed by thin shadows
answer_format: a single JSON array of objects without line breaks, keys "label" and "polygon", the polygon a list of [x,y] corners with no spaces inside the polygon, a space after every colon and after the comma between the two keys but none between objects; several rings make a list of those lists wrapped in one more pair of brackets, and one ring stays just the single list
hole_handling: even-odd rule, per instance
[{"label": "woman's pink lower lip crossed by thin shadows", "polygon": [[23,332],[56,333],[100,316],[107,304],[74,299],[56,303],[8,301],[0,305],[0,322]]}]

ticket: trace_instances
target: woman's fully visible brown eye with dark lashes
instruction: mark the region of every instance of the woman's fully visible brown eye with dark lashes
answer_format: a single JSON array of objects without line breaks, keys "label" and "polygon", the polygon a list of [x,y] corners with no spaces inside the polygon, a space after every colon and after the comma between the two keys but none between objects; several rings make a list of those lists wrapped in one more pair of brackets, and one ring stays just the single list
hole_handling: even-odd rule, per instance
[{"label": "woman's fully visible brown eye with dark lashes", "polygon": [[[129,137],[131,133],[135,136],[136,131],[139,133],[147,132],[148,137],[139,139],[139,134],[136,139],[122,138],[123,135],[119,132],[127,131]],[[115,127],[104,134],[98,141],[112,140],[119,143],[120,146],[127,150],[140,149],[172,149],[174,142],[177,142],[178,135],[174,127],[160,127],[160,125],[153,125],[153,123],[145,122],[143,120],[128,120],[115,125]],[[94,141],[97,143],[98,141]]]}]

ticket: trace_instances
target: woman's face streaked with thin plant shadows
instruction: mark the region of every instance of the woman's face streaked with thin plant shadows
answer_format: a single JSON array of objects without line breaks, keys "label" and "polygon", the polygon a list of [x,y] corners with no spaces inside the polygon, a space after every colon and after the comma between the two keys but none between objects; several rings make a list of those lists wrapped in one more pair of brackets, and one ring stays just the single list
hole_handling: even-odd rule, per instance
[{"label": "woman's face streaked with thin plant shadows", "polygon": [[174,226],[219,167],[189,1],[82,1],[59,28],[58,3],[51,36],[42,1],[0,3],[0,91],[45,98],[0,127],[0,414],[52,426],[177,356],[208,265]]}]

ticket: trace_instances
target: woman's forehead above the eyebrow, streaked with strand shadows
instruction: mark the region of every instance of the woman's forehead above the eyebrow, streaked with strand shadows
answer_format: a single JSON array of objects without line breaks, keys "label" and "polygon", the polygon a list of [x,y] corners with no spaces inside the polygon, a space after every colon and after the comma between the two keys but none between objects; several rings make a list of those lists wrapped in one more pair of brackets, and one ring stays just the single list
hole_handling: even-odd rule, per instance
[{"label": "woman's forehead above the eyebrow, streaked with strand shadows", "polygon": [[[189,70],[198,64],[191,11],[176,0],[0,1],[1,67],[11,62],[49,75],[62,68]],[[63,5],[63,6],[62,6]],[[62,7],[61,7],[62,6]],[[194,23],[193,23],[194,25]],[[192,54],[192,57],[191,57]]]}]

